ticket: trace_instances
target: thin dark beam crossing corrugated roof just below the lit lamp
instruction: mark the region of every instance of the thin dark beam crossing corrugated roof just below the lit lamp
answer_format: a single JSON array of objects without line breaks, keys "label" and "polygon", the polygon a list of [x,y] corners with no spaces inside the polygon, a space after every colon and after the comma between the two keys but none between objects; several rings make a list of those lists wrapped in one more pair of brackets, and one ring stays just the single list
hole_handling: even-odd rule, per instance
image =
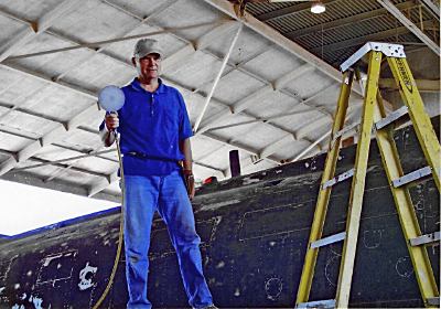
[{"label": "thin dark beam crossing corrugated roof just below the lit lamp", "polygon": [[[397,8],[400,10],[406,10],[406,9],[413,8],[415,6],[416,6],[415,1],[411,0],[411,1],[407,1],[407,2],[397,4]],[[293,31],[283,33],[283,35],[291,40],[295,40],[301,36],[312,34],[314,32],[321,32],[322,30],[323,30],[323,32],[326,32],[326,31],[330,31],[330,30],[333,30],[336,28],[341,28],[341,26],[344,26],[344,25],[347,25],[347,24],[351,24],[354,22],[362,22],[362,21],[375,19],[383,14],[386,14],[387,12],[388,11],[385,8],[381,8],[381,9],[377,9],[377,10],[373,10],[373,11],[363,12],[359,14],[354,14],[352,17],[347,17],[347,18],[343,18],[343,19],[338,19],[338,20],[333,20],[333,21],[320,23],[316,25],[311,25],[311,26],[306,26],[303,29],[293,30]]]}]

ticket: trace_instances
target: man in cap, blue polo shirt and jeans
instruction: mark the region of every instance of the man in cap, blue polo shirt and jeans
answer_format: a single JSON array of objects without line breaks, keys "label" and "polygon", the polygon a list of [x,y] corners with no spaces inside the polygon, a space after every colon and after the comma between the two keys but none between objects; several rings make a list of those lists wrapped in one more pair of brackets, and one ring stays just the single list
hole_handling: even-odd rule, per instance
[{"label": "man in cap, blue polo shirt and jeans", "polygon": [[127,308],[151,308],[147,298],[148,252],[155,211],[176,251],[190,306],[216,308],[203,275],[201,238],[190,203],[194,196],[193,132],[182,95],[159,78],[161,56],[158,41],[138,41],[132,57],[138,77],[122,88],[126,102],[118,115],[106,115],[100,127],[106,146],[115,141],[111,130],[118,128],[121,137]]}]

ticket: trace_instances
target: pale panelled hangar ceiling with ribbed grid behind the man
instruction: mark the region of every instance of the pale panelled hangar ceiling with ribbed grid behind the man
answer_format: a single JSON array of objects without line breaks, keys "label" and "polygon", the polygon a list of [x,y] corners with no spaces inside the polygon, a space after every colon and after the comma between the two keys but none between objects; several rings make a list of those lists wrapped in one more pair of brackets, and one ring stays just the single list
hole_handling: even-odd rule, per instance
[{"label": "pale panelled hangar ceiling with ribbed grid behind the man", "polygon": [[[161,42],[163,81],[183,94],[192,125],[202,117],[192,138],[200,182],[229,177],[230,150],[239,150],[244,173],[295,158],[327,132],[338,97],[335,68],[262,22],[236,17],[226,0],[2,1],[0,26],[0,177],[31,173],[117,194],[116,150],[101,153],[104,110],[96,100],[101,87],[136,76],[131,56],[141,36]],[[110,39],[117,41],[80,45]],[[60,50],[65,47],[74,49]],[[47,53],[32,55],[42,51]],[[60,161],[93,150],[98,154]],[[37,163],[44,166],[18,170]]]}]

